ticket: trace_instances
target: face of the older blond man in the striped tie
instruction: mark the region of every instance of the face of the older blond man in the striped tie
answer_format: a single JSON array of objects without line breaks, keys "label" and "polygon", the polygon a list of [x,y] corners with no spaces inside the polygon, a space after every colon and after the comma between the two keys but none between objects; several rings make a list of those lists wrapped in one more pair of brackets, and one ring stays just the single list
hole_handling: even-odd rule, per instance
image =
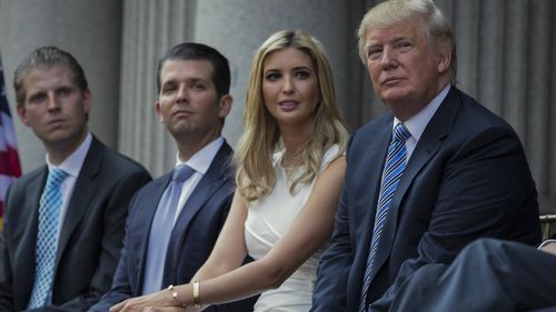
[{"label": "face of the older blond man in the striped tie", "polygon": [[376,94],[403,121],[426,107],[449,80],[450,56],[427,40],[423,22],[370,30],[365,51]]}]

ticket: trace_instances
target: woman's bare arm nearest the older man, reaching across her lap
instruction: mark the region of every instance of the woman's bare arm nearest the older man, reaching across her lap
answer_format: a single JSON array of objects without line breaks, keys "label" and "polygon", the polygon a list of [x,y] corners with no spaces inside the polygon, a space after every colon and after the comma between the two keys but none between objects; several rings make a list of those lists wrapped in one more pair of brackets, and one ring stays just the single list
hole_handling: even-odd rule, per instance
[{"label": "woman's bare arm nearest the older man, reaching across her lap", "polygon": [[[340,157],[322,171],[317,178],[311,194],[299,215],[290,225],[286,234],[266,256],[221,275],[208,280],[200,280],[200,302],[202,304],[214,304],[240,300],[258,294],[267,289],[277,288],[290,276],[305,261],[307,261],[307,259],[309,259],[309,256],[330,239],[345,169],[345,157]],[[245,213],[246,217],[247,211],[245,211]],[[245,218],[242,220],[245,222]],[[225,228],[227,225],[228,224],[226,224]],[[242,238],[244,225],[241,224],[240,228],[242,241],[240,248],[245,250],[245,240]],[[230,232],[234,233],[234,231]],[[226,238],[222,238],[222,235],[218,239],[219,250],[232,248],[220,248],[220,244],[227,243],[225,240]],[[218,274],[218,270],[222,272],[226,271],[225,269],[229,269],[229,266],[217,264],[219,261],[211,260],[212,256],[216,259],[225,255],[221,254],[217,256],[216,252],[217,251],[212,252],[208,262],[214,261],[216,264],[210,266],[221,269],[201,269],[203,271],[202,275],[209,276],[215,273]],[[237,261],[237,259],[235,261]],[[196,279],[201,276],[199,273],[196,274]],[[186,305],[193,304],[192,283],[176,286],[175,291],[181,303]],[[133,299],[126,303],[127,304],[122,304],[121,308],[126,305],[126,309],[129,310],[119,308],[121,310],[113,311],[140,311],[143,306],[180,305],[179,302],[172,299],[171,292],[169,291],[161,291],[142,300],[141,298]],[[133,310],[133,308],[139,309]]]}]

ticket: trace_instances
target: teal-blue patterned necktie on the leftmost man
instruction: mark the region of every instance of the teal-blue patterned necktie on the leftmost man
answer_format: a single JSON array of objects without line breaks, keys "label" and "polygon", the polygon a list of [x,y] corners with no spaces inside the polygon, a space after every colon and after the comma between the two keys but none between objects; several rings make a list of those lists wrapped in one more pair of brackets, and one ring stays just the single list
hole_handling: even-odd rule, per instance
[{"label": "teal-blue patterned necktie on the leftmost man", "polygon": [[47,185],[39,201],[39,231],[34,250],[34,283],[28,309],[40,308],[50,303],[54,278],[56,251],[58,249],[58,223],[62,192],[60,185],[68,177],[61,169],[48,173]]}]

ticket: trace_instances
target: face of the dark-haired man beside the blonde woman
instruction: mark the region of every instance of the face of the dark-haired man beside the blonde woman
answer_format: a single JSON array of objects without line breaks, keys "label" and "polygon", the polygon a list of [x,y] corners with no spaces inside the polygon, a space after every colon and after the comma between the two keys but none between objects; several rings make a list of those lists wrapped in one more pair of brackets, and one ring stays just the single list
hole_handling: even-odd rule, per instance
[{"label": "face of the dark-haired man beside the blonde woman", "polygon": [[168,60],[160,71],[156,110],[179,142],[209,141],[220,134],[231,97],[218,99],[212,64],[206,60]]}]

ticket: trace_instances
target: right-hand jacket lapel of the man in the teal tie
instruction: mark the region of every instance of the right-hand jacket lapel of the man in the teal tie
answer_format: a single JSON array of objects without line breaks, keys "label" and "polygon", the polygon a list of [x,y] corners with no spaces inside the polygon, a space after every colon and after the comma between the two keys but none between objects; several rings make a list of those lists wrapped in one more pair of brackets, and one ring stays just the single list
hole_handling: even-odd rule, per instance
[{"label": "right-hand jacket lapel of the man in the teal tie", "polygon": [[61,255],[68,245],[71,234],[83,218],[89,203],[91,202],[98,183],[95,177],[98,174],[101,165],[105,147],[93,137],[87,157],[77,178],[73,192],[71,193],[70,202],[67,208],[63,224],[60,231],[58,242],[56,265],[60,262]]}]

